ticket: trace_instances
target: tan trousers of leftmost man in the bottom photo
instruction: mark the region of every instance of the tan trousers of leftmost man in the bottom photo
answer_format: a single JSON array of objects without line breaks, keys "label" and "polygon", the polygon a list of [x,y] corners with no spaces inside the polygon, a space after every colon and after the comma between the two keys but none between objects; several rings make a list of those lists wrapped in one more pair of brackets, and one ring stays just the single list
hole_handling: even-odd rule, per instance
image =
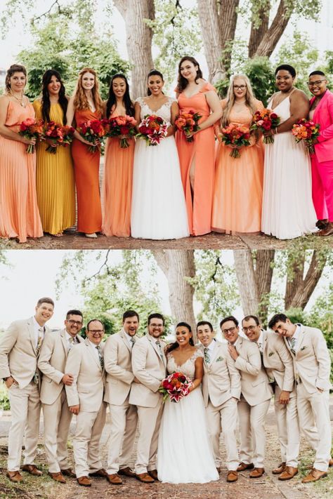
[{"label": "tan trousers of leftmost man in the bottom photo", "polygon": [[11,385],[8,390],[11,403],[11,428],[8,434],[8,470],[20,470],[22,441],[25,444],[25,465],[36,458],[41,403],[38,387],[30,382],[25,388]]}]

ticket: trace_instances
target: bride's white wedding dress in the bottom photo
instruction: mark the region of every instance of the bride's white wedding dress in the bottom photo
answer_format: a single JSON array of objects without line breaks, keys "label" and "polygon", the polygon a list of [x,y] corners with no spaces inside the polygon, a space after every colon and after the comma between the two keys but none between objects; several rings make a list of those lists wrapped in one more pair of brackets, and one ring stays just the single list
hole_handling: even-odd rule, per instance
[{"label": "bride's white wedding dress in the bottom photo", "polygon": [[[197,357],[203,357],[200,350],[177,366],[172,352],[167,354],[168,374],[181,372],[193,380]],[[170,484],[218,480],[200,387],[178,403],[166,400],[159,430],[157,471],[159,480]]]}]

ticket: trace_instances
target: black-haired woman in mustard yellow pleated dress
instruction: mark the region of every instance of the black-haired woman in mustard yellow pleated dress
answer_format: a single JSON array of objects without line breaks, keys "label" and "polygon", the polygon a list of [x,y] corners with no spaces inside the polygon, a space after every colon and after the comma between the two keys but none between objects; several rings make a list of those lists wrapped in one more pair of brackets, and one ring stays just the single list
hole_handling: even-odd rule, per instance
[{"label": "black-haired woman in mustard yellow pleated dress", "polygon": [[[34,101],[36,117],[66,124],[67,97],[60,74],[48,69],[43,75],[42,96]],[[44,232],[63,236],[75,223],[75,184],[70,147],[56,147],[55,154],[46,151],[49,143],[37,145],[37,200]]]}]

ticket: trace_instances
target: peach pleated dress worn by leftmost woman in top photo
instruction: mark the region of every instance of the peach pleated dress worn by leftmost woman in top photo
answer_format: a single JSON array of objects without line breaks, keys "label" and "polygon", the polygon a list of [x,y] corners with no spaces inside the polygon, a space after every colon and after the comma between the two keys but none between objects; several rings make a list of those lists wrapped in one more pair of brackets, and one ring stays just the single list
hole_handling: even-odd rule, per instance
[{"label": "peach pleated dress worn by leftmost woman in top photo", "polygon": [[[10,101],[6,126],[18,132],[20,124],[34,118],[30,103],[22,107]],[[42,237],[36,194],[36,154],[27,154],[27,145],[0,135],[0,237]]]}]

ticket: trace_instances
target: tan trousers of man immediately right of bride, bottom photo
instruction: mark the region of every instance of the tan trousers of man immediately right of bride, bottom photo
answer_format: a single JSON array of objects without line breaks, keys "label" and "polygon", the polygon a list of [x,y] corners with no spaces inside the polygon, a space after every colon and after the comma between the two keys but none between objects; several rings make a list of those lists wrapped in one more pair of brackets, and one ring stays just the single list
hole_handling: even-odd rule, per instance
[{"label": "tan trousers of man immediately right of bride, bottom photo", "polygon": [[224,445],[226,446],[226,465],[228,470],[237,470],[240,463],[237,451],[237,401],[229,399],[221,406],[214,407],[209,400],[206,408],[208,434],[213,448],[216,467],[221,467],[220,435],[223,432]]}]

